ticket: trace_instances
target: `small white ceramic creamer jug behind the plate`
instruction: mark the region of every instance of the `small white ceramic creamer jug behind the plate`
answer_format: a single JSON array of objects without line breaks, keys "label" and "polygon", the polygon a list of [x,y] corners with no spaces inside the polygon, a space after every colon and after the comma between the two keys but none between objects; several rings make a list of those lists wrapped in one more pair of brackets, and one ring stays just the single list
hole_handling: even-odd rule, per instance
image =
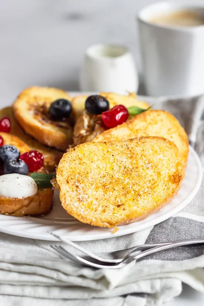
[{"label": "small white ceramic creamer jug behind the plate", "polygon": [[119,94],[136,92],[138,75],[132,54],[125,46],[90,46],[80,73],[80,89]]}]

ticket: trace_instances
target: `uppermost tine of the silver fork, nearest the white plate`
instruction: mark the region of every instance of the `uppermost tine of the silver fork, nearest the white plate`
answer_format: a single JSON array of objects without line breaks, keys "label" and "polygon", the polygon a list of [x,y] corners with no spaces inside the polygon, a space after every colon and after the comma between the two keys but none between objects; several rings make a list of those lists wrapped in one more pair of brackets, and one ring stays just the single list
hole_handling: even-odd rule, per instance
[{"label": "uppermost tine of the silver fork, nearest the white plate", "polygon": [[58,238],[60,241],[69,244],[70,246],[72,246],[73,248],[83,252],[84,254],[88,255],[89,257],[98,260],[100,262],[105,262],[105,263],[120,263],[122,261],[122,259],[108,259],[108,258],[102,258],[100,256],[97,256],[96,254],[86,250],[85,248],[79,246],[77,243],[74,243],[73,241],[70,240],[65,240],[64,238],[54,234],[53,232],[49,232],[49,234],[53,235],[54,237]]}]

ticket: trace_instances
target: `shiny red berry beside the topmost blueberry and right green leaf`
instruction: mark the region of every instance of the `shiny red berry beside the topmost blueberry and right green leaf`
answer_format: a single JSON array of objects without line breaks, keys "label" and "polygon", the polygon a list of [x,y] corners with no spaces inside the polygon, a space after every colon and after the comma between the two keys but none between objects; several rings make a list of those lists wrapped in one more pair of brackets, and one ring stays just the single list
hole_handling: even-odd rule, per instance
[{"label": "shiny red berry beside the topmost blueberry and right green leaf", "polygon": [[109,111],[101,114],[101,119],[107,127],[115,127],[127,120],[129,112],[123,105],[116,105]]}]

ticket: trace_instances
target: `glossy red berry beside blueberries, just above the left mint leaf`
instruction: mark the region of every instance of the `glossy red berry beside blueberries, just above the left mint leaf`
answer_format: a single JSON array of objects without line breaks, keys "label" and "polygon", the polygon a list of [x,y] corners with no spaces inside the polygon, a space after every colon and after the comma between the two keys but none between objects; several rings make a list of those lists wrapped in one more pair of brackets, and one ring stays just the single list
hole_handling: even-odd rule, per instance
[{"label": "glossy red berry beside blueberries, just above the left mint leaf", "polygon": [[43,166],[43,156],[37,150],[31,150],[20,155],[19,159],[23,160],[29,167],[29,172],[37,171]]}]

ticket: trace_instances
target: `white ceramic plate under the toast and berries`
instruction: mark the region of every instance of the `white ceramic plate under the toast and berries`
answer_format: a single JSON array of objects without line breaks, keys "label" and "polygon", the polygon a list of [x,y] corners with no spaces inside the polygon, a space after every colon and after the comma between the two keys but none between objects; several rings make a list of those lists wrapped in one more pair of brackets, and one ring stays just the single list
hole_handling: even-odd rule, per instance
[{"label": "white ceramic plate under the toast and berries", "polygon": [[44,217],[11,217],[0,215],[0,231],[20,237],[57,240],[48,232],[66,236],[72,241],[86,241],[123,236],[160,223],[182,210],[196,195],[202,181],[202,167],[196,152],[190,147],[186,176],[177,196],[159,212],[139,222],[119,226],[112,234],[110,228],[84,224],[69,216],[62,208],[59,194],[55,193],[52,212]]}]

